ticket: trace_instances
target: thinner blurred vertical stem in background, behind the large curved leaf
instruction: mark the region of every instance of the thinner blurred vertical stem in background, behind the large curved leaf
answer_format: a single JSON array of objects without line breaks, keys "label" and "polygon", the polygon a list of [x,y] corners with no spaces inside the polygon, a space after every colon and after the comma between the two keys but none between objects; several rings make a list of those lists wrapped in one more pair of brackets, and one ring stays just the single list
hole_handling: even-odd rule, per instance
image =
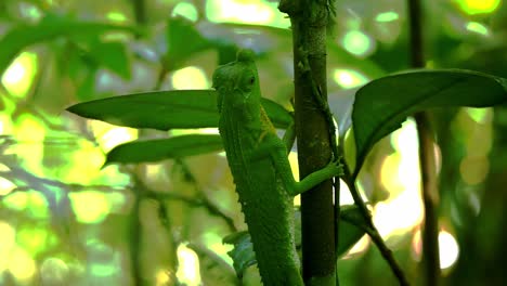
[{"label": "thinner blurred vertical stem in background, behind the large curved leaf", "polygon": [[[411,65],[424,67],[422,26],[420,0],[408,0]],[[419,166],[421,178],[421,195],[425,207],[425,224],[422,229],[422,266],[426,273],[426,285],[438,285],[440,277],[439,259],[439,222],[438,222],[438,188],[434,171],[433,139],[427,113],[415,115],[419,138]]]}]

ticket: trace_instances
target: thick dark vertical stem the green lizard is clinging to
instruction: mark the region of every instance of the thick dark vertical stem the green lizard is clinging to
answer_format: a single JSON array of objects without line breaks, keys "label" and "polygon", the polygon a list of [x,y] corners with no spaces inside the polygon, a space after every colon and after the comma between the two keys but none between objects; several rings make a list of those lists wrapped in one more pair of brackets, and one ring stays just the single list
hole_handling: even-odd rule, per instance
[{"label": "thick dark vertical stem the green lizard is clinging to", "polygon": [[[332,157],[328,126],[313,88],[327,99],[327,0],[281,0],[290,17],[295,67],[295,122],[300,177]],[[306,285],[335,285],[336,249],[332,180],[301,195],[302,269]]]}]

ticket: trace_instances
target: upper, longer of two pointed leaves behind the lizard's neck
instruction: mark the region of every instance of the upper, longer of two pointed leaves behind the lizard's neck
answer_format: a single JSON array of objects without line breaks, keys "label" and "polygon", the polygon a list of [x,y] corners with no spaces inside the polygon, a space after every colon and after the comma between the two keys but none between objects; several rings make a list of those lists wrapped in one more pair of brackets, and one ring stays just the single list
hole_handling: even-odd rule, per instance
[{"label": "upper, longer of two pointed leaves behind the lizard's neck", "polygon": [[[286,128],[292,120],[281,105],[263,99],[273,123]],[[133,128],[207,128],[218,126],[214,90],[172,90],[120,95],[79,103],[67,108],[79,116]]]}]

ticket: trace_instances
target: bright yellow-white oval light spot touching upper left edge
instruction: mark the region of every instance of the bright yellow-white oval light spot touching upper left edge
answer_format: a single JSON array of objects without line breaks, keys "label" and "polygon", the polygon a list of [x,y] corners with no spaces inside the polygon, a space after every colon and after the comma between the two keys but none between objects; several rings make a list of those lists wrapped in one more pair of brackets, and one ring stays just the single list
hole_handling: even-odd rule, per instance
[{"label": "bright yellow-white oval light spot touching upper left edge", "polygon": [[16,98],[24,98],[31,87],[37,72],[37,54],[23,52],[3,73],[2,83]]}]

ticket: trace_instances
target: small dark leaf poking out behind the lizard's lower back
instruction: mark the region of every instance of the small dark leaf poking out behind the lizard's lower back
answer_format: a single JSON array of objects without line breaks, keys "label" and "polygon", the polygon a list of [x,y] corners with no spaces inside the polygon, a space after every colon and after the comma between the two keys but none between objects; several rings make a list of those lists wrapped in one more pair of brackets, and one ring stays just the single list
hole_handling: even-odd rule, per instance
[{"label": "small dark leaf poking out behind the lizard's lower back", "polygon": [[234,270],[239,278],[249,266],[257,264],[251,237],[247,231],[230,234],[222,242],[234,246],[227,255],[232,258]]}]

